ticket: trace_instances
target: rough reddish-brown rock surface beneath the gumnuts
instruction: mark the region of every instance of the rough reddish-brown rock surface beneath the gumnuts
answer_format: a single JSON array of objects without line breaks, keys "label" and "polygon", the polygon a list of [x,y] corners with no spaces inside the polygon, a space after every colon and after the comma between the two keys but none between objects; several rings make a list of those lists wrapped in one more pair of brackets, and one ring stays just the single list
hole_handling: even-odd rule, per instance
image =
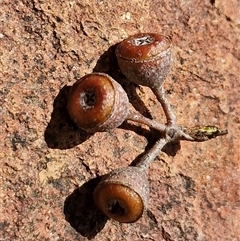
[{"label": "rough reddish-brown rock surface beneath the gumnuts", "polygon": [[[239,9],[238,0],[1,0],[0,240],[240,240]],[[152,92],[128,83],[113,54],[146,31],[172,37],[165,88],[178,122],[229,134],[168,146],[150,168],[148,211],[119,224],[93,203],[98,176],[158,135],[124,123],[88,136],[69,120],[66,96],[80,76],[109,73],[135,108],[164,122]]]}]

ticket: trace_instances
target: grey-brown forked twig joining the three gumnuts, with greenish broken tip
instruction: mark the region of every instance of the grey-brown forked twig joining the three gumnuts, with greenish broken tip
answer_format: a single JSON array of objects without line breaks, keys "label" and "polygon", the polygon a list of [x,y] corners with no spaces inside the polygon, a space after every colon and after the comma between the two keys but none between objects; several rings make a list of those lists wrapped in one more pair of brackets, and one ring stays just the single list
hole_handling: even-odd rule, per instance
[{"label": "grey-brown forked twig joining the three gumnuts, with greenish broken tip", "polygon": [[171,106],[165,96],[165,91],[163,87],[160,86],[159,88],[155,88],[152,90],[163,108],[167,124],[161,124],[155,120],[149,119],[141,115],[139,112],[129,111],[126,118],[127,120],[132,120],[141,124],[148,125],[149,127],[163,134],[163,137],[161,137],[155,143],[155,145],[148,152],[146,152],[145,155],[142,156],[136,166],[147,171],[150,164],[154,161],[156,156],[167,143],[178,140],[203,142],[211,140],[218,136],[228,134],[227,129],[221,130],[218,127],[212,125],[199,125],[194,127],[179,126],[176,122],[176,116],[173,113]]}]

